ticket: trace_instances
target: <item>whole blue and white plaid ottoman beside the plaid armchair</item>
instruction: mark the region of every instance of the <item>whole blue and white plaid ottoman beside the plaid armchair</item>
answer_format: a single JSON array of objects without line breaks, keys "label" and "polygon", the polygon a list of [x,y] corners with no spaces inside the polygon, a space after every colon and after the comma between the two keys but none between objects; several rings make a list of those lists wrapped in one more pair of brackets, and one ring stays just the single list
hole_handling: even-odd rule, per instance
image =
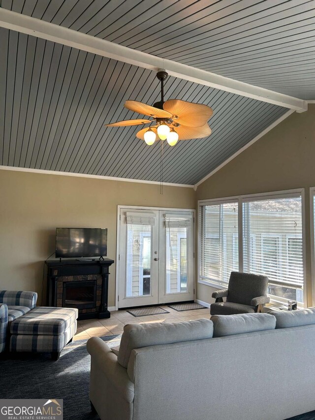
[{"label": "whole blue and white plaid ottoman beside the plaid armchair", "polygon": [[77,330],[78,310],[39,306],[15,321],[10,332],[11,352],[51,353],[58,360]]}]

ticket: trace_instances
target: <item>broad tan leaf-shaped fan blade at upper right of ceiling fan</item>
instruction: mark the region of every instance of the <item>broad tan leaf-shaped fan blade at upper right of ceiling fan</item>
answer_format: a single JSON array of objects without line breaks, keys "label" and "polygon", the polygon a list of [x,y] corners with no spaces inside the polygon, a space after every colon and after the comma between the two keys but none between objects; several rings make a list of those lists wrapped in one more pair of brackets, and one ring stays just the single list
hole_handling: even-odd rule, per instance
[{"label": "broad tan leaf-shaped fan blade at upper right of ceiling fan", "polygon": [[186,127],[202,127],[213,114],[208,105],[181,99],[169,99],[164,102],[163,108],[172,114],[172,119],[176,123]]}]

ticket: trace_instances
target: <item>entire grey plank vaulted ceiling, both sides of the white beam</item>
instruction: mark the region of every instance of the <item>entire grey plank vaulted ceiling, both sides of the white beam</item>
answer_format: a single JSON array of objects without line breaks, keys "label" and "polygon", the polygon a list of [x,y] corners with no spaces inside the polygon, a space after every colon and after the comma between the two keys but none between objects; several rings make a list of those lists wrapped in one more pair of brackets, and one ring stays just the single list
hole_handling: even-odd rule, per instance
[{"label": "entire grey plank vaulted ceiling, both sides of the white beam", "polygon": [[[3,8],[287,95],[315,98],[315,1],[0,0]],[[160,180],[160,146],[126,99],[153,104],[155,73],[0,29],[2,165]],[[166,99],[210,105],[212,134],[163,150],[163,180],[195,184],[286,108],[169,77]]]}]

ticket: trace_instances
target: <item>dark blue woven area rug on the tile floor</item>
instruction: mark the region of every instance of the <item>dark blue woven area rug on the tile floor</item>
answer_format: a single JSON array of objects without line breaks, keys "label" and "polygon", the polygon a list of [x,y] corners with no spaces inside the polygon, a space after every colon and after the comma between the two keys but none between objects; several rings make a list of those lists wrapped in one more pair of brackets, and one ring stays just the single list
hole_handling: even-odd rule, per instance
[{"label": "dark blue woven area rug on the tile floor", "polygon": [[[121,336],[101,338],[114,347]],[[50,355],[0,360],[0,398],[63,398],[63,420],[99,420],[91,413],[86,342],[69,344],[56,362],[50,360]],[[315,411],[287,420],[315,420]]]}]

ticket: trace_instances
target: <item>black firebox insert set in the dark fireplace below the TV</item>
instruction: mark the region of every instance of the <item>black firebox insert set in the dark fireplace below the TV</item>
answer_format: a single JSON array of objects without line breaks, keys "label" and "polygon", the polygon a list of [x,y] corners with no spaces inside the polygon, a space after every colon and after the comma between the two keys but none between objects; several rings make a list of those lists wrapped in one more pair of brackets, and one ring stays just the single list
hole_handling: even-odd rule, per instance
[{"label": "black firebox insert set in the dark fireplace below the TV", "polygon": [[95,308],[96,281],[66,282],[63,284],[63,307]]}]

